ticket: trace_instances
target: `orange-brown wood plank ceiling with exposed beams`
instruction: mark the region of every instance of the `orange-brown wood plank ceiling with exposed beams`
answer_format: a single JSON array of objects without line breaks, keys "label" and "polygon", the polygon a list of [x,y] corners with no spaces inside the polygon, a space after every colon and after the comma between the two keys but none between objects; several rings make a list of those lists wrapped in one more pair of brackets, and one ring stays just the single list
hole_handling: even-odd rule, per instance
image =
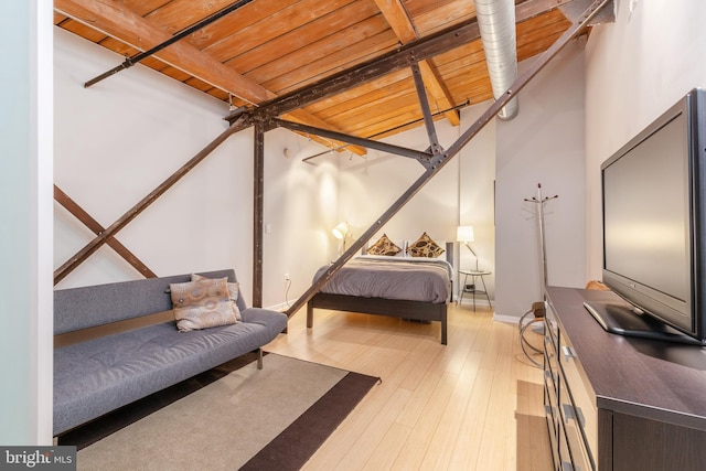
[{"label": "orange-brown wood plank ceiling with exposed beams", "polygon": [[[515,1],[535,3],[538,12],[517,23],[520,61],[544,52],[570,26],[556,8],[569,1]],[[54,23],[132,57],[234,3],[240,4],[235,11],[141,64],[236,107],[252,107],[475,15],[471,0],[54,0]],[[492,98],[480,39],[421,62],[420,69],[435,119],[456,126],[458,113],[450,109]],[[119,86],[110,81],[99,86]],[[410,69],[287,116],[374,139],[421,126],[421,117]]]}]

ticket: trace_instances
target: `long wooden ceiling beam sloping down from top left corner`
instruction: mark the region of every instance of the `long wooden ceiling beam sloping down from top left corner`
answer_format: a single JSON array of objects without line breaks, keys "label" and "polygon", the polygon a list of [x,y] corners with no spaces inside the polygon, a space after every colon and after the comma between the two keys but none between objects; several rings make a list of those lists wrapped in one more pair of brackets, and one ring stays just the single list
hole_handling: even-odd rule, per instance
[{"label": "long wooden ceiling beam sloping down from top left corner", "polygon": [[[149,20],[126,8],[121,2],[108,2],[105,0],[54,0],[54,10],[100,31],[103,34],[126,43],[138,51],[152,49],[170,41],[172,38],[170,33],[153,25]],[[154,56],[174,68],[193,75],[216,88],[228,92],[245,103],[257,106],[263,101],[277,97],[272,92],[223,65],[213,56],[199,51],[186,42],[171,44],[159,51]],[[304,110],[298,110],[296,116],[290,116],[289,118],[312,126],[338,130]],[[320,142],[324,146],[331,146],[329,141],[321,140]],[[335,143],[335,146],[338,144],[339,143]],[[364,148],[356,146],[349,146],[346,150],[357,153],[359,156],[366,153]]]}]

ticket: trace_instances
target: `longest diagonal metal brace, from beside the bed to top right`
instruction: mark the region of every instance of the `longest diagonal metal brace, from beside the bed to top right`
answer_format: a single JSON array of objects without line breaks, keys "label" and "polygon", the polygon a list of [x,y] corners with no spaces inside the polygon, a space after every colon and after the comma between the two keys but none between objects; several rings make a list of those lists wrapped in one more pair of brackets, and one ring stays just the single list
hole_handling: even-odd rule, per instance
[{"label": "longest diagonal metal brace, from beside the bed to top right", "polygon": [[502,96],[500,96],[495,100],[495,103],[493,103],[493,105],[491,105],[491,107],[473,125],[471,125],[471,127],[459,139],[457,139],[457,141],[446,152],[443,152],[441,154],[442,158],[440,159],[439,164],[436,165],[436,167],[432,167],[430,169],[427,169],[427,171],[425,171],[421,174],[421,176],[419,176],[409,186],[409,189],[405,193],[403,193],[403,195],[399,196],[397,199],[397,201],[395,201],[393,203],[393,205],[387,211],[385,211],[385,213],[383,213],[373,223],[373,225],[367,228],[367,231],[365,231],[361,235],[361,237],[357,240],[355,240],[353,244],[351,244],[351,246],[347,248],[347,250],[345,250],[343,253],[343,255],[341,255],[341,257],[339,257],[339,259],[335,260],[321,277],[319,277],[317,280],[314,280],[314,282],[311,285],[311,287],[309,287],[309,289],[307,291],[304,291],[304,293],[301,295],[301,297],[299,297],[299,299],[297,299],[297,301],[295,301],[295,303],[287,310],[287,312],[286,312],[287,315],[288,317],[293,315],[307,302],[309,302],[309,300],[311,298],[313,298],[313,296],[317,292],[319,292],[321,287],[323,287],[323,285],[325,285],[327,281],[329,281],[329,279],[331,279],[331,277],[333,275],[335,275],[335,272],[339,271],[341,269],[341,267],[343,267],[343,265],[345,265],[346,261],[349,261],[355,254],[357,254],[359,250],[361,249],[361,247],[363,247],[363,245],[367,240],[370,240],[370,238],[373,237],[373,235],[375,235],[375,233],[382,226],[384,226],[395,214],[397,214],[397,212],[399,212],[399,210],[402,210],[402,207],[407,202],[409,202],[409,200],[411,200],[411,197],[415,194],[417,194],[419,192],[419,190],[421,190],[421,188],[431,178],[434,178],[434,175],[436,175],[449,161],[451,161],[451,159],[453,157],[456,157],[461,151],[461,149],[473,137],[475,137],[475,135],[478,135],[478,132],[488,122],[490,122],[490,120],[495,115],[498,115],[498,113],[500,113],[500,110],[503,108],[503,106],[505,106],[507,104],[507,101],[510,101],[515,95],[517,95],[520,93],[520,90],[522,88],[524,88],[525,85],[527,85],[527,83],[532,78],[534,78],[534,76],[542,68],[544,68],[552,61],[552,58],[554,58],[554,56],[561,49],[564,49],[564,46],[566,46],[566,44],[568,44],[569,41],[571,41],[575,36],[577,36],[584,30],[584,28],[586,28],[586,25],[589,24],[591,19],[606,4],[612,3],[612,1],[613,0],[595,0],[595,1],[590,2],[590,4],[588,6],[588,8],[586,8],[586,10],[579,17],[579,19],[576,22],[574,22],[574,24],[564,34],[561,34],[561,36],[559,36],[556,40],[556,42],[548,50],[546,50],[543,54],[539,55],[539,57],[537,57],[537,60],[535,61],[533,66],[528,71],[526,71],[524,74],[522,74],[520,77],[517,77],[515,83]]}]

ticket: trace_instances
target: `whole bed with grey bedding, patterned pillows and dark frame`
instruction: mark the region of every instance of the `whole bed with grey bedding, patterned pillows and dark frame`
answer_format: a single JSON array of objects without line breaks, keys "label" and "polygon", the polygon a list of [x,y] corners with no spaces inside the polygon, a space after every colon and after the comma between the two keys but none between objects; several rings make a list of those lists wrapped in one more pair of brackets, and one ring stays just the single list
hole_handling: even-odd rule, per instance
[{"label": "whole bed with grey bedding, patterned pillows and dark frame", "polygon": [[[413,249],[399,248],[395,255],[368,255],[370,249],[364,250],[365,255],[349,260],[309,300],[307,327],[313,327],[314,308],[440,322],[441,344],[446,345],[447,307],[453,291],[453,244],[445,245],[446,249],[438,251],[445,256],[436,258],[407,256]],[[324,276],[329,267],[321,267],[313,279]]]}]

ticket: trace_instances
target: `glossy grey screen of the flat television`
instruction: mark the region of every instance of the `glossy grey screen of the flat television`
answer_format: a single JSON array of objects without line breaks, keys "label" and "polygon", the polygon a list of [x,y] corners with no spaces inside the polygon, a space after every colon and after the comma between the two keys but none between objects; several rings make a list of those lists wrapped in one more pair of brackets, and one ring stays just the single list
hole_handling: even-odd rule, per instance
[{"label": "glossy grey screen of the flat television", "polygon": [[[686,119],[674,119],[603,169],[605,268],[677,302],[689,328]],[[678,311],[677,311],[678,312]]]}]

